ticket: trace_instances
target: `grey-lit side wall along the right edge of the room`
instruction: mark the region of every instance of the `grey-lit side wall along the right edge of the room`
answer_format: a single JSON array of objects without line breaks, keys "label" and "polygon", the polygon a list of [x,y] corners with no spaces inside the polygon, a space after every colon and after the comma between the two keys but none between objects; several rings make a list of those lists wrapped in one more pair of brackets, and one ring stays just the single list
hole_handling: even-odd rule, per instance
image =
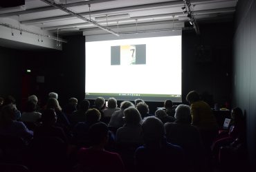
[{"label": "grey-lit side wall along the right edge of the room", "polygon": [[251,171],[256,171],[256,1],[237,4],[232,74],[233,105],[246,114]]}]

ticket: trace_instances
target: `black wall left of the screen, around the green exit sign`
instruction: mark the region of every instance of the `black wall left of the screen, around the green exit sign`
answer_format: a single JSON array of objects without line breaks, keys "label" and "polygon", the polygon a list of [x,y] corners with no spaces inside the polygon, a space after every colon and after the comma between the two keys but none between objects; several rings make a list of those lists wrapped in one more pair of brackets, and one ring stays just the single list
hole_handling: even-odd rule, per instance
[{"label": "black wall left of the screen, around the green exit sign", "polygon": [[[62,51],[40,50],[24,52],[23,68],[32,69],[30,80],[30,94],[39,95],[42,104],[46,103],[49,92],[60,94],[61,105],[67,103],[68,98],[84,98],[84,36],[73,35],[64,39]],[[44,76],[44,83],[37,83],[37,76]]]}]

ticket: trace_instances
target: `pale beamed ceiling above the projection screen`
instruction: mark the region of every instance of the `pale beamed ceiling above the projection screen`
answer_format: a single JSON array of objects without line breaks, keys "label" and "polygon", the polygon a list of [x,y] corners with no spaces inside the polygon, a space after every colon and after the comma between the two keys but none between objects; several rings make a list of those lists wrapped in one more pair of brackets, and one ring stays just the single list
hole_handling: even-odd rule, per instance
[{"label": "pale beamed ceiling above the projection screen", "polygon": [[[52,0],[48,0],[52,1]],[[185,0],[188,2],[189,0]],[[232,21],[238,0],[191,0],[190,10],[198,27],[202,22]],[[126,25],[151,25],[172,23],[184,29],[193,29],[191,18],[184,14],[183,0],[55,0],[71,12],[99,25],[113,29]],[[90,6],[90,8],[89,8]],[[33,25],[60,34],[72,34],[97,28],[94,24],[78,19],[67,12],[56,9],[43,0],[26,0],[25,6],[17,10],[0,9],[0,17],[20,21],[22,25]],[[185,25],[179,26],[179,23]],[[179,28],[179,29],[181,29]],[[171,28],[170,28],[171,29]]]}]

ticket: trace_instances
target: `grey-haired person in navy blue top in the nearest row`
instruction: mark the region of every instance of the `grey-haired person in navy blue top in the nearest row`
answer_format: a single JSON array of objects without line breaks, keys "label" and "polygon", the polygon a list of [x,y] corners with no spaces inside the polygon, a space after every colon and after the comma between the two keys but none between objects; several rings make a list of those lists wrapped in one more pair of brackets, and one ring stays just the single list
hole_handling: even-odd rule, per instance
[{"label": "grey-haired person in navy blue top in the nearest row", "polygon": [[183,149],[166,142],[163,122],[154,116],[142,124],[145,145],[135,152],[136,171],[185,171]]}]

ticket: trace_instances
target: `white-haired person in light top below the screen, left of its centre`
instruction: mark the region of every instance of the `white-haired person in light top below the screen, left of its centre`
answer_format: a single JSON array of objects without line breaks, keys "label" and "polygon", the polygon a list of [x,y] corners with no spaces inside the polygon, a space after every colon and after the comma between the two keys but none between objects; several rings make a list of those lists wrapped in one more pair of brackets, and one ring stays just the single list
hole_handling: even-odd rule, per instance
[{"label": "white-haired person in light top below the screen, left of its centre", "polygon": [[115,111],[119,111],[119,110],[120,108],[118,107],[116,98],[109,98],[108,105],[106,106],[106,109],[103,110],[104,116],[102,117],[102,122],[109,124],[109,120],[112,114]]}]

